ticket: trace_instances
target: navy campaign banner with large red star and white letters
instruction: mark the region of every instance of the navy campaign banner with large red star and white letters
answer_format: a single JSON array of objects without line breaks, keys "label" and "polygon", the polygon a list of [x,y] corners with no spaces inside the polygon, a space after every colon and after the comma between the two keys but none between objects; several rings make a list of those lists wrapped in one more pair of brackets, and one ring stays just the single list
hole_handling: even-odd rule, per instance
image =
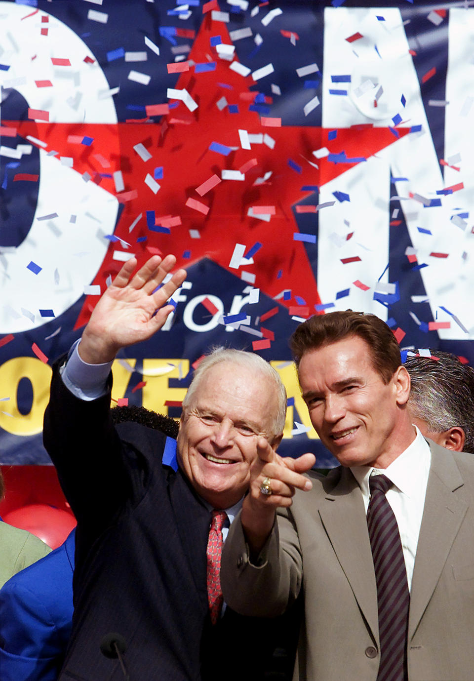
[{"label": "navy campaign banner with large red star and white letters", "polygon": [[49,462],[50,365],[132,256],[188,277],[112,399],[179,417],[210,347],[253,351],[283,456],[334,464],[288,348],[311,315],[474,363],[473,2],[379,5],[0,0],[0,462]]}]

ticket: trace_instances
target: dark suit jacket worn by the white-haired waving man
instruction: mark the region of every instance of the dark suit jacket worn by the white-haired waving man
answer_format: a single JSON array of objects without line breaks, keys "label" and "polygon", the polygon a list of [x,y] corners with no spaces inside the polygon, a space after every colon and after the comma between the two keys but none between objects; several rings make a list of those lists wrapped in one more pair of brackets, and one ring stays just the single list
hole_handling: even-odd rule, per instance
[{"label": "dark suit jacket worn by the white-haired waving man", "polygon": [[55,370],[44,443],[78,520],[75,612],[59,679],[123,679],[99,651],[110,632],[125,637],[131,681],[208,681],[224,669],[226,678],[261,679],[253,654],[263,661],[274,645],[262,624],[231,612],[210,624],[210,512],[180,469],[162,464],[165,436],[136,423],[115,430],[109,405],[110,394],[75,398]]}]

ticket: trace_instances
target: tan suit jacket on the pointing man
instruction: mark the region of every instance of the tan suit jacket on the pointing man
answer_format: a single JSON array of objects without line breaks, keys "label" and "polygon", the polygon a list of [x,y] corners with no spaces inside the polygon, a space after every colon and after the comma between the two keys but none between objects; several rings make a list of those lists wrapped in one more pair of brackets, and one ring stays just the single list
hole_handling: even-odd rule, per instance
[{"label": "tan suit jacket on the pointing man", "polygon": [[[409,681],[474,680],[474,455],[429,441],[432,463],[409,614]],[[362,493],[349,469],[311,474],[258,566],[240,518],[225,541],[221,584],[237,612],[274,616],[304,590],[294,679],[376,681],[377,589]]]}]

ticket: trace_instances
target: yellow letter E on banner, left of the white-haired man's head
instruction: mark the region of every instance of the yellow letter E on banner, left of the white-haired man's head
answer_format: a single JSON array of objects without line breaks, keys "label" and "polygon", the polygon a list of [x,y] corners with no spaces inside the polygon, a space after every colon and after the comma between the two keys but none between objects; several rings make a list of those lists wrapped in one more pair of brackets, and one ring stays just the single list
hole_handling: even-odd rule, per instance
[{"label": "yellow letter E on banner, left of the white-haired man's head", "polygon": [[189,360],[143,360],[142,405],[159,414],[168,415],[166,400],[182,402],[187,388],[169,387],[168,379],[184,378],[189,372]]}]

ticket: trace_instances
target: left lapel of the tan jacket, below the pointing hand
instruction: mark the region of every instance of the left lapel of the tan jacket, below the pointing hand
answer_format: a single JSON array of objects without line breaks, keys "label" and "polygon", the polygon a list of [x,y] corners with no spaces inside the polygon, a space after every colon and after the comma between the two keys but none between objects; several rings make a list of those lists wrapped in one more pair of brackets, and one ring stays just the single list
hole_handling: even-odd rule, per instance
[{"label": "left lapel of the tan jacket, below the pointing hand", "polygon": [[349,469],[341,469],[341,480],[323,498],[319,516],[373,638],[377,641],[377,585],[364,500]]}]

